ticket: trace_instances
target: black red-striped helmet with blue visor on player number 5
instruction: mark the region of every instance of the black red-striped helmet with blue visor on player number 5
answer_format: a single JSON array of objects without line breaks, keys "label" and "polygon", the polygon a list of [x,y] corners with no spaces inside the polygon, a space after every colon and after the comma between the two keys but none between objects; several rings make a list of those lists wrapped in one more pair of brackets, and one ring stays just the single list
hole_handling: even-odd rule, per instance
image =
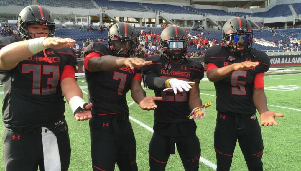
[{"label": "black red-striped helmet with blue visor on player number 5", "polygon": [[[252,48],[252,26],[244,17],[229,19],[223,27],[222,36],[227,48],[233,52],[244,53]],[[233,44],[235,44],[234,47],[232,46]]]}]

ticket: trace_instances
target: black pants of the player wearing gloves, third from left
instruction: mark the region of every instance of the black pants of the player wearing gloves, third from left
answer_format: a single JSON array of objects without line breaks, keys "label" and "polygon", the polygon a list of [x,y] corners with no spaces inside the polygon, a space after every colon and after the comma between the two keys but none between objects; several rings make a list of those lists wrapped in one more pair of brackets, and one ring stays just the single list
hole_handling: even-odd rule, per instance
[{"label": "black pants of the player wearing gloves, third from left", "polygon": [[194,133],[182,137],[169,137],[154,132],[149,145],[151,171],[165,170],[170,154],[175,154],[175,144],[185,170],[199,170],[200,141]]}]

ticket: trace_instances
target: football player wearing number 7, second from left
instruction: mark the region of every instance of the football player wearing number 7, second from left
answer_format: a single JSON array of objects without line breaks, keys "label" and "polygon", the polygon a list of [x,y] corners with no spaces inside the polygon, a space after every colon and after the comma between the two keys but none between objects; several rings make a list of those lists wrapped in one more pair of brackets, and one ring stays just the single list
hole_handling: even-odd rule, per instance
[{"label": "football player wearing number 7, second from left", "polygon": [[126,93],[131,90],[133,100],[144,110],[153,110],[157,107],[154,100],[162,99],[146,96],[141,87],[138,67],[151,61],[129,58],[138,47],[137,39],[134,28],[121,22],[110,28],[109,48],[95,42],[85,49],[85,74],[93,104],[90,120],[93,170],[114,170],[115,163],[120,170],[138,170]]}]

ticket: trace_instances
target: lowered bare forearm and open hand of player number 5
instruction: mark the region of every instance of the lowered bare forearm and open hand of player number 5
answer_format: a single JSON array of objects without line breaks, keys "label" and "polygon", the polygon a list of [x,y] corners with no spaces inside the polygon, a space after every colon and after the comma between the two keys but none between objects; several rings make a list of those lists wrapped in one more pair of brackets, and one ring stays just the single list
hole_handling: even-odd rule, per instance
[{"label": "lowered bare forearm and open hand of player number 5", "polygon": [[262,126],[273,126],[273,124],[277,126],[278,123],[276,122],[275,117],[284,116],[282,113],[268,110],[264,89],[253,90],[253,102],[260,114],[260,125]]}]

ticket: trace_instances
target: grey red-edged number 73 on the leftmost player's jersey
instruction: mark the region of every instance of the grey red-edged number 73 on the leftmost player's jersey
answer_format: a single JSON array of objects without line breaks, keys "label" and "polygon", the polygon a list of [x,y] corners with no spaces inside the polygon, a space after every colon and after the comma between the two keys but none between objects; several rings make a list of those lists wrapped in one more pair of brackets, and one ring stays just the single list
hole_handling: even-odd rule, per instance
[{"label": "grey red-edged number 73 on the leftmost player's jersey", "polygon": [[[38,64],[23,64],[22,73],[30,74],[33,73],[33,95],[48,95],[56,92],[58,80],[60,78],[60,72],[58,66],[43,65],[41,71],[41,65]],[[41,73],[43,75],[50,75],[52,73],[52,78],[47,79],[47,85],[51,87],[42,87],[41,91]],[[44,85],[44,84],[42,84]]]}]

